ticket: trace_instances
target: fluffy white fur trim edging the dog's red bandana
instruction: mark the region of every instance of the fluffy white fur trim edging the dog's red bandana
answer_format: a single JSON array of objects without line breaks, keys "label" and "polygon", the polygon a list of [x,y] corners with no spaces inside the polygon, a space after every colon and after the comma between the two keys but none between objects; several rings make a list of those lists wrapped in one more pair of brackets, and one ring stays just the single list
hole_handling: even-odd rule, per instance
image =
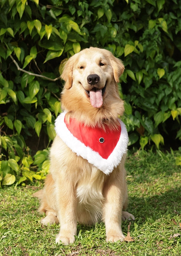
[{"label": "fluffy white fur trim edging the dog's red bandana", "polygon": [[66,112],[61,113],[55,120],[56,134],[78,156],[87,159],[89,163],[97,167],[103,173],[111,173],[114,167],[119,165],[123,155],[127,152],[127,144],[129,139],[125,124],[118,119],[119,123],[121,124],[121,135],[113,152],[107,159],[104,159],[99,155],[99,153],[93,151],[90,147],[86,147],[82,142],[80,142],[80,140],[72,135],[64,123],[65,115]]}]

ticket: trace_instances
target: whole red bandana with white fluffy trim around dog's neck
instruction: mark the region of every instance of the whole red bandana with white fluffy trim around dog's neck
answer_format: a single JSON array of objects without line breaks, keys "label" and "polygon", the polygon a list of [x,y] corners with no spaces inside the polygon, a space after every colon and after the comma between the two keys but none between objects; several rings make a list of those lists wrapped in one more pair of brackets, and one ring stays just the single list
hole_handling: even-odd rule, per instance
[{"label": "whole red bandana with white fluffy trim around dog's neck", "polygon": [[127,152],[128,135],[125,124],[117,119],[118,129],[112,131],[109,126],[88,127],[79,123],[75,118],[70,123],[65,120],[63,112],[55,120],[56,134],[78,156],[109,174],[121,162]]}]

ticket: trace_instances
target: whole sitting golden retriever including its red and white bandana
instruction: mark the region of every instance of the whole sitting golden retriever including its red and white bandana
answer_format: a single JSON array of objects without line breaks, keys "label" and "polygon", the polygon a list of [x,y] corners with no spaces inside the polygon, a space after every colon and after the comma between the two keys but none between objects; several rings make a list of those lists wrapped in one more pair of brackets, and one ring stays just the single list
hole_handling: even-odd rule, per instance
[{"label": "whole sitting golden retriever including its red and white bandana", "polygon": [[100,219],[107,241],[123,241],[121,220],[134,220],[123,211],[128,202],[128,136],[118,119],[124,102],[117,84],[123,71],[122,61],[109,50],[94,47],[64,65],[63,113],[55,121],[50,174],[35,193],[41,200],[39,211],[46,214],[41,223],[60,223],[56,243],[73,243],[77,222],[92,225]]}]

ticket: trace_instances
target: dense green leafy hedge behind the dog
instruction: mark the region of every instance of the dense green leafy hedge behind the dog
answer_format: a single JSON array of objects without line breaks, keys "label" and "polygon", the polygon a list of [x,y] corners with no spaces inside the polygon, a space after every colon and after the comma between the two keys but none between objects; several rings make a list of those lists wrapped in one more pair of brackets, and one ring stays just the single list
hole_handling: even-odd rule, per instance
[{"label": "dense green leafy hedge behind the dog", "polygon": [[45,178],[61,111],[59,75],[89,46],[125,64],[120,96],[130,146],[178,148],[181,0],[0,0],[0,13],[2,185]]}]

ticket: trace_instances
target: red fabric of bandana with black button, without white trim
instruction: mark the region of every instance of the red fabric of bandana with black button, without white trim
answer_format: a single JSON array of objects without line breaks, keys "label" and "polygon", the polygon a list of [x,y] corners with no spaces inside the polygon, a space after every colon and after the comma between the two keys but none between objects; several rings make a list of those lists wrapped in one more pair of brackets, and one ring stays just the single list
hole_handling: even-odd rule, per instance
[{"label": "red fabric of bandana with black button, without white trim", "polygon": [[82,142],[86,147],[90,147],[93,151],[98,152],[102,158],[107,159],[113,152],[121,135],[121,125],[118,122],[118,129],[111,131],[106,126],[105,131],[99,127],[88,127],[78,123],[75,118],[71,118],[70,123],[64,122],[68,130]]}]

